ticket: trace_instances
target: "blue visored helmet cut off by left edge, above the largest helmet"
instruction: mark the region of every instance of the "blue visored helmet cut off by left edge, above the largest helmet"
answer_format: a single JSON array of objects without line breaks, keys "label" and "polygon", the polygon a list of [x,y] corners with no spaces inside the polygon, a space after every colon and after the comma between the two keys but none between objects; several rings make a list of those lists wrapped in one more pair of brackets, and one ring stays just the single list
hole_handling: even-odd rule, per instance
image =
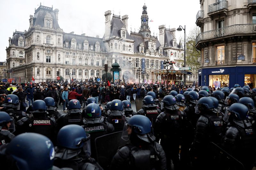
[{"label": "blue visored helmet cut off by left edge, above the largest helmet", "polygon": [[3,128],[8,129],[10,132],[15,131],[14,119],[6,112],[0,112],[0,131]]}]

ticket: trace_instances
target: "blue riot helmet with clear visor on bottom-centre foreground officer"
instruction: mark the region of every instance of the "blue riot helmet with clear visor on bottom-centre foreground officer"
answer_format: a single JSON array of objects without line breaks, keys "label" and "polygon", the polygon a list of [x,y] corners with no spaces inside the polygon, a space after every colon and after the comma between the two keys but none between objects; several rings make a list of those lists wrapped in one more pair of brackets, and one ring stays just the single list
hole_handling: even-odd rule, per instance
[{"label": "blue riot helmet with clear visor on bottom-centre foreground officer", "polygon": [[129,140],[131,135],[136,135],[139,139],[151,143],[156,137],[151,133],[152,124],[148,117],[144,115],[134,115],[124,125],[122,139]]}]

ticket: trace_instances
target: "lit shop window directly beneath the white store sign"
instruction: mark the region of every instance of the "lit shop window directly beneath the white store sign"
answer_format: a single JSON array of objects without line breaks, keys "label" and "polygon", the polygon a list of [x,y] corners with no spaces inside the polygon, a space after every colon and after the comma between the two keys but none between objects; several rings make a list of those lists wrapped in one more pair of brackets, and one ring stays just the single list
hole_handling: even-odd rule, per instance
[{"label": "lit shop window directly beneath the white store sign", "polygon": [[229,86],[229,75],[209,75],[209,86],[217,88]]}]

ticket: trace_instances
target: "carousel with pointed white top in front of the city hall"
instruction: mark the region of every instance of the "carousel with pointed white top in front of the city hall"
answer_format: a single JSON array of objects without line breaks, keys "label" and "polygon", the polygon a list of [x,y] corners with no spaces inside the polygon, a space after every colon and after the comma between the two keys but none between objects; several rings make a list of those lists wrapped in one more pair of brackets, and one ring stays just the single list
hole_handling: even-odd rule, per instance
[{"label": "carousel with pointed white top in front of the city hall", "polygon": [[176,84],[184,80],[185,75],[180,72],[181,69],[176,65],[172,56],[170,61],[167,59],[163,62],[163,65],[164,69],[155,72],[157,82],[169,85]]}]

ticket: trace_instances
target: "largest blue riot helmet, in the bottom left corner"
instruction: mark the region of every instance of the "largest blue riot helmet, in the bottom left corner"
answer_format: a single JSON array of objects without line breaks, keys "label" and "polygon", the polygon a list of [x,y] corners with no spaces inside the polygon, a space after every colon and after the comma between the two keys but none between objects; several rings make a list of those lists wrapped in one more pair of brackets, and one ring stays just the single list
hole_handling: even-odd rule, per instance
[{"label": "largest blue riot helmet, in the bottom left corner", "polygon": [[10,169],[45,170],[53,167],[55,152],[52,141],[38,133],[22,133],[0,150],[15,162],[13,166],[16,167]]}]

